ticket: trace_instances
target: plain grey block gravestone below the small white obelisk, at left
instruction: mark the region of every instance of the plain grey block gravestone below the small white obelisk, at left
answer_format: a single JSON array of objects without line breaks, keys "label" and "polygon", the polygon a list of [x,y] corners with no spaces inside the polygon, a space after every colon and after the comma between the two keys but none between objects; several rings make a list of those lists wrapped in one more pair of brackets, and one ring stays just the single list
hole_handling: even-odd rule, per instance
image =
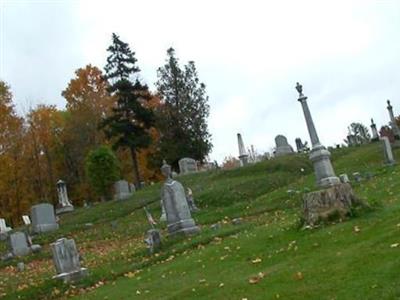
[{"label": "plain grey block gravestone below the small white obelisk, at left", "polygon": [[49,203],[36,204],[31,207],[32,231],[42,233],[58,229],[54,207]]}]

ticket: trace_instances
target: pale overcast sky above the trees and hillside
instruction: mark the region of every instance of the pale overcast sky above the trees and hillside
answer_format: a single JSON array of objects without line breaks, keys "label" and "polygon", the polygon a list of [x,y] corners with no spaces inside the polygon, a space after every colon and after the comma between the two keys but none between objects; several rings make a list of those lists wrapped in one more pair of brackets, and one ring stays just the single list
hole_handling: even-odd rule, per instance
[{"label": "pale overcast sky above the trees and hillside", "polygon": [[342,143],[351,122],[400,114],[400,1],[0,0],[0,79],[19,111],[65,107],[77,68],[103,69],[111,33],[136,52],[154,89],[166,50],[194,60],[207,86],[212,159],[246,147],[269,151],[278,134],[309,140],[296,81],[323,144]]}]

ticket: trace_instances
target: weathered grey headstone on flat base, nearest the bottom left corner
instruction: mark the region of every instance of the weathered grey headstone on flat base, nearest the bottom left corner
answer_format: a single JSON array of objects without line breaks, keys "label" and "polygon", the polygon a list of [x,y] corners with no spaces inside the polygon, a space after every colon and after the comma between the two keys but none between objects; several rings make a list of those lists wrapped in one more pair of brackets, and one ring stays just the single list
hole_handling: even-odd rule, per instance
[{"label": "weathered grey headstone on flat base, nearest the bottom left corner", "polygon": [[87,269],[81,268],[79,253],[73,239],[61,238],[50,244],[57,275],[54,279],[75,282],[87,275]]}]

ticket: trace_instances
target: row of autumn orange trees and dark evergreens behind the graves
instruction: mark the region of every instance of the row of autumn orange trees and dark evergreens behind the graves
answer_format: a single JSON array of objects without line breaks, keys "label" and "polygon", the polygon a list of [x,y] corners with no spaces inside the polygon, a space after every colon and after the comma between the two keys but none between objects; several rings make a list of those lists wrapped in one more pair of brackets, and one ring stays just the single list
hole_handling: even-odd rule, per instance
[{"label": "row of autumn orange trees and dark evergreens behind the graves", "polygon": [[150,91],[127,43],[113,34],[107,50],[104,72],[92,65],[76,70],[61,92],[64,110],[41,104],[19,116],[11,88],[0,81],[0,217],[9,223],[19,223],[34,203],[57,204],[58,179],[67,182],[74,205],[109,198],[88,176],[96,151],[112,151],[114,177],[137,188],[161,178],[163,159],[177,169],[180,158],[204,161],[210,152],[208,96],[194,62],[182,67],[168,49]]}]

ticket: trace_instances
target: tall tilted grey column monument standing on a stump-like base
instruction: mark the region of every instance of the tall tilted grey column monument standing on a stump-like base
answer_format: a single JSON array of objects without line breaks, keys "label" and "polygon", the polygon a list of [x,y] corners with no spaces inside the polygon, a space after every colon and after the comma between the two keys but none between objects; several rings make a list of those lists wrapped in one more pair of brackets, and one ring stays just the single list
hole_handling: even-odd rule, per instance
[{"label": "tall tilted grey column monument standing on a stump-like base", "polygon": [[340,183],[340,179],[336,177],[330,160],[330,152],[320,143],[317,131],[311,117],[310,110],[307,104],[307,97],[303,95],[303,87],[297,83],[297,91],[299,92],[298,101],[303,107],[304,117],[306,119],[308,132],[312,143],[310,152],[310,160],[313,163],[317,185],[325,188]]}]

